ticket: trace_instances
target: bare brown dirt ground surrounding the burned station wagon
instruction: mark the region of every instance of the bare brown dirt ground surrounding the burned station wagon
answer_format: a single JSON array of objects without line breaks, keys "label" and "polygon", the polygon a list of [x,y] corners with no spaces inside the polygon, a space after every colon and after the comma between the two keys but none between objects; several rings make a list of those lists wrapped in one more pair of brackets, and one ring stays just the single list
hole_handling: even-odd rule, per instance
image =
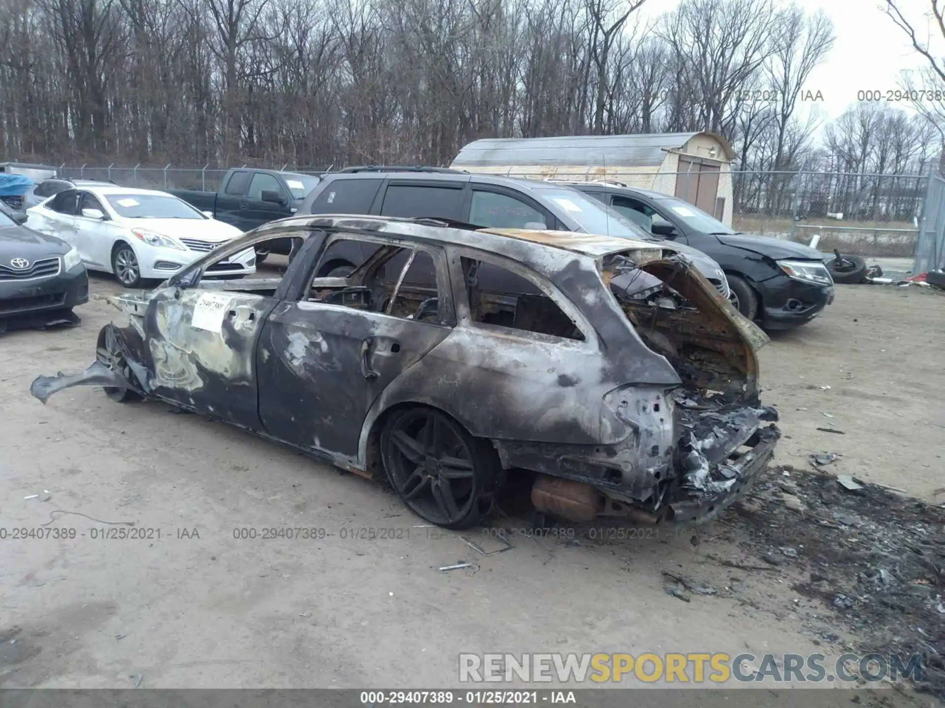
[{"label": "bare brown dirt ground surrounding the burned station wagon", "polygon": [[[93,290],[118,287],[94,278]],[[799,591],[807,566],[758,557],[803,556],[812,538],[772,511],[790,502],[771,489],[804,487],[808,456],[833,452],[827,472],[945,502],[945,296],[915,287],[839,286],[823,316],[773,337],[764,399],[782,413],[776,464],[788,466],[720,520],[558,539],[500,514],[514,548],[489,557],[422,528],[384,486],[223,424],[96,389],[43,406],[30,381],[83,368],[120,316],[97,301],[78,312],[77,328],[0,339],[0,527],[76,530],[0,540],[2,687],[455,686],[470,651],[865,653],[868,633],[829,592]],[[780,521],[767,528],[769,515]],[[105,537],[129,524],[155,531]],[[261,538],[282,527],[327,535]],[[466,535],[496,548],[494,529]],[[473,566],[438,571],[457,562]],[[667,585],[663,571],[716,592]],[[903,698],[880,693],[864,704]]]}]

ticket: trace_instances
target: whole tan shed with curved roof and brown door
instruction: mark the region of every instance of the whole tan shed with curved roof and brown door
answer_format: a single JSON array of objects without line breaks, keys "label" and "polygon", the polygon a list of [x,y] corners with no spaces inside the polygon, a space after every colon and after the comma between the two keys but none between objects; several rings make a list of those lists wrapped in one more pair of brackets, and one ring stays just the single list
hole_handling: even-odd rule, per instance
[{"label": "whole tan shed with curved roof and brown door", "polygon": [[455,169],[529,179],[620,182],[675,194],[731,224],[731,145],[710,132],[485,138],[459,151]]}]

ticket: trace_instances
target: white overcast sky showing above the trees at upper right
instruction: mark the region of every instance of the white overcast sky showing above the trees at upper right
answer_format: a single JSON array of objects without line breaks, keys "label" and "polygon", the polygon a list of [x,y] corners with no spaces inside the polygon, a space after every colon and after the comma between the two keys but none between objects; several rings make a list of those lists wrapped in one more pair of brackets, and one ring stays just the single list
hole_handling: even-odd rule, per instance
[{"label": "white overcast sky showing above the trees at upper right", "polygon": [[[823,102],[805,103],[801,108],[817,106],[826,120],[836,118],[857,103],[857,92],[899,88],[903,69],[923,66],[924,59],[912,48],[905,33],[885,14],[882,0],[795,0],[806,11],[822,8],[833,21],[836,41],[827,59],[816,68],[807,88],[820,91]],[[786,4],[786,2],[785,2]],[[655,18],[676,8],[679,0],[649,0],[640,9],[641,19]],[[902,0],[906,17],[917,29],[925,31],[922,11],[925,0]],[[645,11],[644,11],[645,10]],[[922,34],[919,33],[919,37]],[[945,54],[942,42],[933,44]],[[907,102],[885,104],[911,110]]]}]

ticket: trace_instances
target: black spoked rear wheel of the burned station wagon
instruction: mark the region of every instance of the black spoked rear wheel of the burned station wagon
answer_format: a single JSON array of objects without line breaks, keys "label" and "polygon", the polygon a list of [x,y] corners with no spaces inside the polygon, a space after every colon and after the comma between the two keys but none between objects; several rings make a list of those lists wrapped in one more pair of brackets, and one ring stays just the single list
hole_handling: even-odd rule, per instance
[{"label": "black spoked rear wheel of the burned station wagon", "polygon": [[446,413],[416,406],[391,413],[381,460],[406,507],[445,529],[475,526],[502,483],[499,457]]}]

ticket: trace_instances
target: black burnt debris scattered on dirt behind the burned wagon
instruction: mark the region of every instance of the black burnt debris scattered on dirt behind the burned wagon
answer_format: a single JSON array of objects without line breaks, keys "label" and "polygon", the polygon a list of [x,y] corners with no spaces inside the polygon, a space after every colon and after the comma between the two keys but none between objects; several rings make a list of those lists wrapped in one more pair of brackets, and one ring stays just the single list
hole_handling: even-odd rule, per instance
[{"label": "black burnt debris scattered on dirt behind the burned wagon", "polygon": [[821,600],[863,653],[918,654],[920,687],[945,697],[945,508],[854,481],[782,466],[726,520],[757,558],[781,555],[767,542],[787,531],[806,575],[794,589]]}]

